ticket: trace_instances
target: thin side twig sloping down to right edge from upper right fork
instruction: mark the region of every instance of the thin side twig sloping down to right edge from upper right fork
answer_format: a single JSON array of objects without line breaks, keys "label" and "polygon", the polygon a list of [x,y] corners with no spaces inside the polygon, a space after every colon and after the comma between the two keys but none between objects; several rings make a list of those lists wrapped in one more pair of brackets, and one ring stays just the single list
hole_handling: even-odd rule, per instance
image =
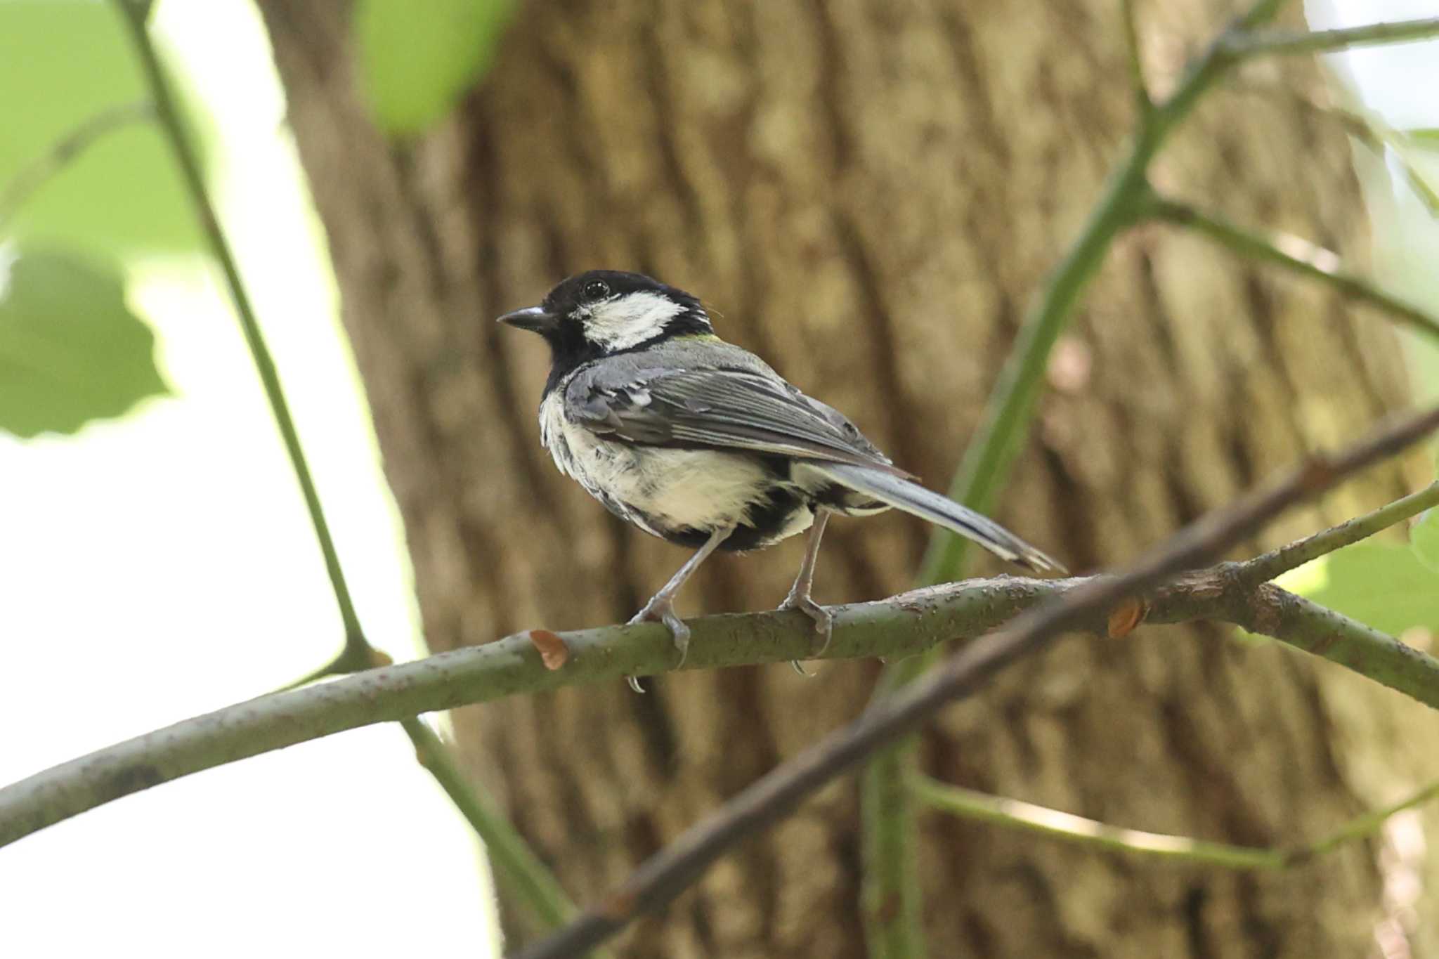
[{"label": "thin side twig sloping down to right edge from upper right fork", "polygon": [[[1213,214],[1203,213],[1189,204],[1163,197],[1151,198],[1148,213],[1157,220],[1194,230],[1197,234],[1246,259],[1275,263],[1299,276],[1322,280],[1344,296],[1376,306],[1389,313],[1394,321],[1417,329],[1427,336],[1439,338],[1439,318],[1392,293],[1386,293],[1371,280],[1357,273],[1341,270],[1335,253],[1317,247],[1308,240],[1291,236],[1282,239],[1266,237]],[[1285,246],[1295,249],[1297,253],[1286,253],[1281,249]]]}]

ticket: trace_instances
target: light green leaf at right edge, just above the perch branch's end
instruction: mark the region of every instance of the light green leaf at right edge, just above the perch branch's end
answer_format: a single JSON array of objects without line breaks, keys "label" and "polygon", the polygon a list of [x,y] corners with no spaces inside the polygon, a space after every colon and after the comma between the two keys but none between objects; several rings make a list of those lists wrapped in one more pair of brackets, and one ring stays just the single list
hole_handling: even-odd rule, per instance
[{"label": "light green leaf at right edge, just above the perch branch's end", "polygon": [[1285,574],[1279,585],[1389,635],[1416,625],[1439,633],[1439,572],[1399,543],[1337,549]]}]

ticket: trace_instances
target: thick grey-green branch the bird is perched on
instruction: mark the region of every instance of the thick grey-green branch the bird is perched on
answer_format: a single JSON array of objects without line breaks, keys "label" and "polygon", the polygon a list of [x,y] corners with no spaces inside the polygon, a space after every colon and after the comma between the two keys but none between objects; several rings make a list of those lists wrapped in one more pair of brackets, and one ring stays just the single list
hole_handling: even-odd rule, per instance
[{"label": "thick grey-green branch the bird is perched on", "polygon": [[[1225,564],[1156,591],[1145,600],[1145,620],[1235,623],[1439,709],[1439,660],[1276,587],[1249,589],[1242,568]],[[881,602],[832,607],[835,633],[822,659],[912,656],[950,640],[976,638],[1045,600],[1092,591],[1102,579],[967,579]],[[1108,612],[1095,611],[1075,628],[1104,634]],[[684,669],[789,663],[807,657],[814,640],[810,620],[793,611],[712,615],[689,624],[694,635]],[[653,623],[557,637],[567,651],[558,670],[545,666],[522,633],[269,693],[72,759],[0,789],[0,845],[131,792],[345,729],[561,686],[617,683],[666,671],[675,659],[669,631]]]}]

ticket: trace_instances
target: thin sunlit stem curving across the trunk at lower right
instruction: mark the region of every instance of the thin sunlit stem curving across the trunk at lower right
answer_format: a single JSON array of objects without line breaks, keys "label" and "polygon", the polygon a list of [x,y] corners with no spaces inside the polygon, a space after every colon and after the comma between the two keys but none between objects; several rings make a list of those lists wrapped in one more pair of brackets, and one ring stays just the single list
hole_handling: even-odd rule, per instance
[{"label": "thin sunlit stem curving across the trunk at lower right", "polygon": [[1007,799],[1003,797],[953,786],[930,776],[914,775],[909,789],[915,798],[941,812],[966,820],[977,820],[991,825],[1023,832],[1049,835],[1066,843],[1111,853],[1128,853],[1151,858],[1163,858],[1193,866],[1220,866],[1238,870],[1286,870],[1308,860],[1333,853],[1345,843],[1374,835],[1392,815],[1413,808],[1439,797],[1439,782],[1432,782],[1403,802],[1383,809],[1374,809],[1356,817],[1338,831],[1305,845],[1294,848],[1253,848],[1209,843],[1187,835],[1167,832],[1145,832],[1128,830],[1082,815],[1050,809],[1048,807]]}]

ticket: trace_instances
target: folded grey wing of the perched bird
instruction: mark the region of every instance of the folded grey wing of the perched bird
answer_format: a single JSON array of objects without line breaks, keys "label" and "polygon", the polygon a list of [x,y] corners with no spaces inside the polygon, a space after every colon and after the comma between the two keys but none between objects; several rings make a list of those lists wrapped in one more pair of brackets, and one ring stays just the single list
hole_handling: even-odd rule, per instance
[{"label": "folded grey wing of the perched bird", "polygon": [[643,446],[753,450],[907,476],[836,410],[750,370],[600,370],[570,381],[566,414]]}]

